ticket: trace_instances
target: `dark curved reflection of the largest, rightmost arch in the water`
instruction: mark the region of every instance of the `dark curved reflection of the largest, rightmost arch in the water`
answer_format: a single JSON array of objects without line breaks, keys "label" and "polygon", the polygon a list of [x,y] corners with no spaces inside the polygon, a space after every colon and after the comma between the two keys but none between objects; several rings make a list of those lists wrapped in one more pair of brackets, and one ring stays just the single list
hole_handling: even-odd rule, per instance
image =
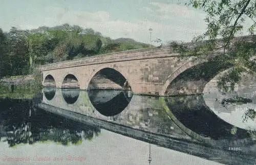
[{"label": "dark curved reflection of the largest, rightmost arch in the water", "polygon": [[238,129],[237,134],[232,135],[230,130],[233,126],[214,114],[200,96],[160,97],[160,103],[170,119],[187,135],[199,142],[221,148],[234,144],[253,143],[246,130]]}]

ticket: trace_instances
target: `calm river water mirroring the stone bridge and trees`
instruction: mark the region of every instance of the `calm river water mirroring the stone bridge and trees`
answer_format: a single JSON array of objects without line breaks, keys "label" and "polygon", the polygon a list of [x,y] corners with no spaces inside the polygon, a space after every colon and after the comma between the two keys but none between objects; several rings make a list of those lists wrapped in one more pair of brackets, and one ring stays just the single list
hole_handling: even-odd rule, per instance
[{"label": "calm river water mirroring the stone bridge and trees", "polygon": [[184,97],[44,88],[0,99],[2,164],[254,164],[256,91],[221,104],[218,92]]}]

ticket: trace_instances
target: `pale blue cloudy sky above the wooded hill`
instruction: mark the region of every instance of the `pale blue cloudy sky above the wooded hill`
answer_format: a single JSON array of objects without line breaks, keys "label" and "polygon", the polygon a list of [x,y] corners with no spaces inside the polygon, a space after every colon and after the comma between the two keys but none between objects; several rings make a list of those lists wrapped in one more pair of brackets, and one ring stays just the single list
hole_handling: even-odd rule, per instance
[{"label": "pale blue cloudy sky above the wooded hill", "polygon": [[69,23],[103,36],[150,43],[190,41],[206,29],[205,14],[184,0],[2,0],[0,28],[36,29]]}]

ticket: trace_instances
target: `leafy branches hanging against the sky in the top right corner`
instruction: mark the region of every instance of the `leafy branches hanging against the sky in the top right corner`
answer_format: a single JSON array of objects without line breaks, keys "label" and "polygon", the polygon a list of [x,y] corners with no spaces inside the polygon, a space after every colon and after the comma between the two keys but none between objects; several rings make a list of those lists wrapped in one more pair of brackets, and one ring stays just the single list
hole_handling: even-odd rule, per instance
[{"label": "leafy branches hanging against the sky in the top right corner", "polygon": [[[186,5],[206,13],[205,21],[208,26],[204,39],[228,38],[224,42],[225,47],[228,47],[234,34],[243,30],[244,27],[240,23],[244,23],[246,17],[253,20],[256,15],[255,1],[251,0],[190,0]],[[248,29],[250,34],[252,34],[254,27],[251,25]]]}]

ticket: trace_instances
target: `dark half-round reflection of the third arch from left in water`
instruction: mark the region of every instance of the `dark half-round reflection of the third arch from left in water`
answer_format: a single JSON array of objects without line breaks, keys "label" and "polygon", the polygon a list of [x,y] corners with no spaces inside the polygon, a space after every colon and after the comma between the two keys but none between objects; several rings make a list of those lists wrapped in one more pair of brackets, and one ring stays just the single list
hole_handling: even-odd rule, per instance
[{"label": "dark half-round reflection of the third arch from left in water", "polygon": [[94,108],[104,116],[119,114],[132,99],[121,90],[89,90],[88,95]]}]

